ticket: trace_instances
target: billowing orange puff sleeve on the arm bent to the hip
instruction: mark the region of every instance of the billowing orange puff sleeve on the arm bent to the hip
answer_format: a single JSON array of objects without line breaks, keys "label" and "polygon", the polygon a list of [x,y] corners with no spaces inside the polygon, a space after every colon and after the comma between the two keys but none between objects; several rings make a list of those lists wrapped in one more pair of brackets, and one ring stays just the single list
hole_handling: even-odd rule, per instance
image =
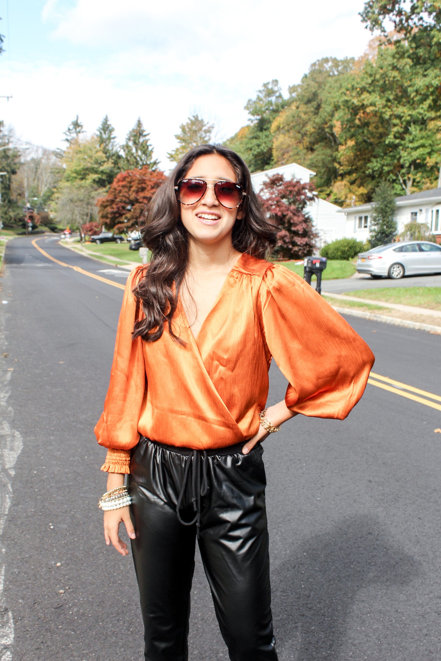
[{"label": "billowing orange puff sleeve on the arm bent to the hip", "polygon": [[289,381],[286,406],[306,416],[346,418],[374,364],[366,342],[284,266],[266,270],[260,301],[266,344]]}]

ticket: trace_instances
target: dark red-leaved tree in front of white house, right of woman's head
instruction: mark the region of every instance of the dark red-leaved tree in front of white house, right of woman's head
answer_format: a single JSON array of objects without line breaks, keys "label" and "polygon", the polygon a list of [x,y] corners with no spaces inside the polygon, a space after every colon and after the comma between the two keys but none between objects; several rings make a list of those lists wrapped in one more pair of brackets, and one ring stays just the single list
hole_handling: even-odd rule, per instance
[{"label": "dark red-leaved tree in front of white house, right of woman's head", "polygon": [[286,180],[283,175],[272,175],[262,185],[263,206],[274,225],[279,228],[274,254],[280,259],[301,259],[312,254],[317,233],[306,211],[314,199],[312,184],[296,179]]}]

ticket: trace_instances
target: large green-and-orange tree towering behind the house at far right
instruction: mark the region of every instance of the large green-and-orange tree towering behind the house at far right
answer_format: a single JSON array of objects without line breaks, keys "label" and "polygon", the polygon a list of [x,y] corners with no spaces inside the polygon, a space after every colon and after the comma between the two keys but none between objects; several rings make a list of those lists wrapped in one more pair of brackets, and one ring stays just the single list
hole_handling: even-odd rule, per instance
[{"label": "large green-and-orange tree towering behind the house at far right", "polygon": [[441,151],[440,77],[440,61],[426,67],[404,42],[380,45],[374,61],[366,59],[346,77],[336,113],[337,161],[339,178],[352,186],[357,201],[372,199],[383,178],[395,194],[434,185]]}]

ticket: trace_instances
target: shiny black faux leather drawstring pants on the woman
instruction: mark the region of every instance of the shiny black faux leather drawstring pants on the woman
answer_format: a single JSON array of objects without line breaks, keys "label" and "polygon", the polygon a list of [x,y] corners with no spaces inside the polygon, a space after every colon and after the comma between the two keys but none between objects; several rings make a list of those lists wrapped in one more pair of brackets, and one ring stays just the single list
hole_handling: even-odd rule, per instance
[{"label": "shiny black faux leather drawstring pants on the woman", "polygon": [[[229,658],[277,661],[263,449],[244,455],[242,447],[202,453],[141,438],[132,453],[132,551],[146,661],[188,659],[196,531]],[[179,521],[178,504],[179,518],[190,525]]]}]

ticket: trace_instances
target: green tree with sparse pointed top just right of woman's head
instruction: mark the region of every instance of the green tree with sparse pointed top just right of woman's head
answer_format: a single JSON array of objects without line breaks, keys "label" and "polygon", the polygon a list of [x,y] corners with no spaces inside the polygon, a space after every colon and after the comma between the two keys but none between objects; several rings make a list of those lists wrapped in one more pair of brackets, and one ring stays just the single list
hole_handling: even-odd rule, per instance
[{"label": "green tree with sparse pointed top just right of woman's head", "polygon": [[251,172],[266,170],[273,165],[271,125],[286,99],[278,80],[264,83],[255,99],[245,105],[249,112],[249,125],[241,128],[235,136],[225,141],[225,147],[237,151]]}]

